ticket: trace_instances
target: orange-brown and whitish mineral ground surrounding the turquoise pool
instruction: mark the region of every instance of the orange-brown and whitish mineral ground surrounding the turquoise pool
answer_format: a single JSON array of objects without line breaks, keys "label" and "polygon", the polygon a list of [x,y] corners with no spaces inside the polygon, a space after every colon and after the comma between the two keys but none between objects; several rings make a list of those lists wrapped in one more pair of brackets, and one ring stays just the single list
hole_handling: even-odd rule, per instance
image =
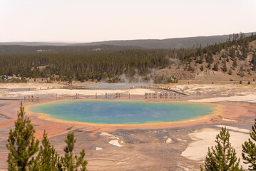
[{"label": "orange-brown and whitish mineral ground surrounding the turquoise pool", "polygon": [[[166,86],[166,85],[165,85]],[[10,91],[12,88],[36,90]],[[40,88],[41,87],[41,90]],[[49,88],[48,88],[49,87]],[[51,87],[51,88],[50,88]],[[69,90],[58,84],[2,84],[0,98],[51,95],[52,97],[130,93],[144,95],[155,90]],[[217,103],[222,106],[217,115],[177,123],[152,125],[93,125],[46,120],[27,113],[36,128],[36,138],[48,132],[56,150],[63,154],[63,140],[73,131],[78,138],[76,153],[86,149],[88,170],[198,170],[203,165],[208,147],[215,145],[215,136],[222,126],[230,131],[230,142],[241,155],[241,144],[249,137],[254,122],[256,85],[239,84],[170,84],[173,90],[190,96],[182,100]],[[158,90],[156,90],[158,92]],[[160,90],[159,90],[160,92]],[[70,98],[72,99],[72,98]],[[24,102],[24,106],[45,103],[51,99]],[[155,99],[168,100],[168,99]],[[173,100],[173,99],[171,99]],[[180,100],[180,99],[179,99]],[[240,102],[250,102],[250,105]],[[6,139],[13,127],[19,100],[0,100],[0,169],[6,168]],[[242,159],[241,159],[242,160]],[[138,162],[139,161],[139,162]],[[242,162],[240,162],[242,164]],[[243,164],[242,164],[243,165]],[[246,167],[246,165],[243,165]]]}]

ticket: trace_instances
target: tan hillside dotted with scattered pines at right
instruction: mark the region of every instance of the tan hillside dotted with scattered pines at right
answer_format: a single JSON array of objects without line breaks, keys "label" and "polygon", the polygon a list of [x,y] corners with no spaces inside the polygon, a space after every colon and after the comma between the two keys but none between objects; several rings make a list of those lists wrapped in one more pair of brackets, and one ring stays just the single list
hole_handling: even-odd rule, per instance
[{"label": "tan hillside dotted with scattered pines at right", "polygon": [[[190,49],[178,54],[178,65],[155,71],[152,76],[178,79],[252,81],[256,79],[256,36],[230,36],[225,43]],[[181,50],[178,50],[181,51]],[[184,50],[185,51],[185,50]]]}]

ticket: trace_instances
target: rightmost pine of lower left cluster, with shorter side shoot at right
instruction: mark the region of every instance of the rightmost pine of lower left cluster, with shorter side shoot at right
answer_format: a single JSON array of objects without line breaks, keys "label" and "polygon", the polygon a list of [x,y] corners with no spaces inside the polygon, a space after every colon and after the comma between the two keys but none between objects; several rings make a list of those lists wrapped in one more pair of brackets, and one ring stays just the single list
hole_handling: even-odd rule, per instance
[{"label": "rightmost pine of lower left cluster, with shorter side shoot at right", "polygon": [[[64,148],[65,156],[61,157],[61,162],[63,164],[63,170],[73,171],[78,170],[80,168],[81,171],[86,171],[87,161],[84,160],[84,156],[86,155],[85,150],[83,149],[80,152],[80,157],[77,155],[73,157],[73,149],[75,147],[76,138],[74,138],[73,132],[68,133],[67,139],[65,140],[66,147]],[[76,162],[74,162],[74,159]]]}]

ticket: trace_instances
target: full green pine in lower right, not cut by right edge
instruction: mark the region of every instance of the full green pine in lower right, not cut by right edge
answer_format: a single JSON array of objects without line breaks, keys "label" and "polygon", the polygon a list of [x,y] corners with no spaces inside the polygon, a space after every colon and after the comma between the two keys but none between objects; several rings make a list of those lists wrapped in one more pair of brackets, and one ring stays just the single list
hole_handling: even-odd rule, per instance
[{"label": "full green pine in lower right, not cut by right edge", "polygon": [[[205,158],[205,170],[222,170],[222,171],[235,171],[242,170],[239,168],[239,161],[235,149],[230,144],[230,133],[226,128],[222,128],[220,134],[216,136],[217,145],[208,148],[208,155]],[[203,167],[201,167],[203,170]]]}]

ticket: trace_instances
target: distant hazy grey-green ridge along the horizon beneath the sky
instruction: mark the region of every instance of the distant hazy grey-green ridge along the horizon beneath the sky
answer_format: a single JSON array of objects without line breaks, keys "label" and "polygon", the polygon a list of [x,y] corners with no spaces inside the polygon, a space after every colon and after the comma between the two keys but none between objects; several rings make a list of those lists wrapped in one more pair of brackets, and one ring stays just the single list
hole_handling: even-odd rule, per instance
[{"label": "distant hazy grey-green ridge along the horizon beneath the sky", "polygon": [[[254,32],[255,34],[256,32]],[[250,36],[252,33],[245,33],[245,36]],[[98,42],[89,42],[89,43],[68,43],[68,42],[0,42],[0,45],[19,45],[19,46],[88,46],[79,47],[92,49],[100,48],[101,46],[130,46],[139,49],[152,49],[152,48],[193,48],[199,44],[204,48],[208,45],[214,45],[215,43],[224,43],[229,38],[229,35],[220,35],[220,36],[198,36],[198,37],[186,37],[186,38],[165,38],[165,39],[138,39],[138,40],[123,40],[123,41],[98,41]],[[26,49],[26,47],[21,47]],[[46,48],[46,47],[43,47]],[[51,48],[48,48],[51,49]],[[56,49],[56,48],[55,48]],[[58,51],[63,48],[57,48]],[[65,49],[65,48],[64,48]],[[74,48],[66,48],[69,51],[73,51]],[[75,48],[76,49],[76,48]],[[115,48],[116,49],[116,48]],[[116,50],[124,50],[127,48],[119,48]],[[15,49],[14,49],[15,50]],[[19,50],[19,49],[18,49]],[[67,50],[65,50],[67,51]],[[15,51],[12,51],[13,53]]]}]

